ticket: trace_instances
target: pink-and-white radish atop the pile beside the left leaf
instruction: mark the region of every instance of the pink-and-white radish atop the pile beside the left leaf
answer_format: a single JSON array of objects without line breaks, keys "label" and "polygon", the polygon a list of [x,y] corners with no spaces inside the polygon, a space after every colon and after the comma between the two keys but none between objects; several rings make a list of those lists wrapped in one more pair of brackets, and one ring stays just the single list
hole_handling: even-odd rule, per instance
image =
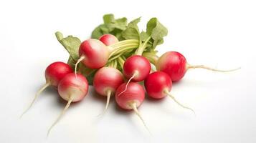
[{"label": "pink-and-white radish atop the pile beside the left leaf", "polygon": [[83,41],[79,48],[80,59],[75,64],[75,73],[77,71],[77,64],[82,61],[82,64],[90,69],[99,69],[108,62],[110,51],[108,47],[98,39],[87,39]]}]

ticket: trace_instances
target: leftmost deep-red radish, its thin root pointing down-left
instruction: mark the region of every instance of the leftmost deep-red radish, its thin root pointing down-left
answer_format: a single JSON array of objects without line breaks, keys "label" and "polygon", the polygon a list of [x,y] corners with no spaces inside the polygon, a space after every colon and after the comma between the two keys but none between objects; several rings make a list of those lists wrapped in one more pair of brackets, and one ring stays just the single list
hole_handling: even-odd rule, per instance
[{"label": "leftmost deep-red radish, its thin root pointing down-left", "polygon": [[21,117],[32,107],[34,104],[35,100],[39,96],[39,94],[44,91],[47,87],[50,85],[57,87],[59,84],[60,80],[65,77],[65,75],[72,73],[72,69],[68,64],[65,64],[64,62],[57,61],[49,66],[47,66],[47,69],[44,71],[44,76],[46,79],[46,83],[43,85],[41,89],[37,92],[37,94],[34,96],[33,101],[31,104],[29,104],[29,107],[23,112]]}]

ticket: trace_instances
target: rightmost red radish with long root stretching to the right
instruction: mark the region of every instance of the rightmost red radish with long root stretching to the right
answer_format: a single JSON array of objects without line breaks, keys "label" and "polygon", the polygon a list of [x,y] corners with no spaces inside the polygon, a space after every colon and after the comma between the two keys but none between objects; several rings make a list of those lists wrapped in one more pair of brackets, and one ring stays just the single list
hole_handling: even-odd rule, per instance
[{"label": "rightmost red radish with long root stretching to the right", "polygon": [[191,66],[186,62],[186,58],[177,51],[166,52],[165,54],[160,56],[160,58],[156,63],[156,69],[158,71],[163,71],[163,72],[166,72],[166,74],[169,74],[173,82],[177,82],[182,77],[184,77],[184,74],[188,69],[196,69],[196,68],[209,69],[212,71],[220,71],[220,72],[235,71],[237,69],[240,69],[240,68],[237,68],[232,70],[219,70],[219,69],[213,69],[204,65]]}]

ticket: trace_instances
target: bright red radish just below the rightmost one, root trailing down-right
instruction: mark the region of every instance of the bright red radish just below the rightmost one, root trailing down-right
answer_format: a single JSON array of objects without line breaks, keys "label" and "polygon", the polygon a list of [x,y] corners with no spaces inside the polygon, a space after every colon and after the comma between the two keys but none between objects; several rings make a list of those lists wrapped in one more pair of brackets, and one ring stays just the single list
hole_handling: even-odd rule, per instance
[{"label": "bright red radish just below the rightmost one, root trailing down-right", "polygon": [[145,79],[144,86],[149,97],[152,97],[153,99],[162,99],[163,97],[166,97],[168,95],[169,97],[171,97],[171,99],[174,100],[174,102],[179,104],[181,107],[184,107],[185,109],[190,109],[192,112],[194,112],[193,109],[185,107],[183,104],[179,103],[174,98],[174,96],[171,95],[170,92],[172,82],[168,74],[162,71],[153,72],[149,74],[148,77]]}]

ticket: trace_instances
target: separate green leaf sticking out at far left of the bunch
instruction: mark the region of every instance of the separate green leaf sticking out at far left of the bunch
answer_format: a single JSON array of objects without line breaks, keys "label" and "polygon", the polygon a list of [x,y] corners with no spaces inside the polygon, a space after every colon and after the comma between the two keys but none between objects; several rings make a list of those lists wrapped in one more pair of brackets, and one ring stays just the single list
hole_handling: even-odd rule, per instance
[{"label": "separate green leaf sticking out at far left of the bunch", "polygon": [[77,61],[77,59],[79,59],[78,50],[81,44],[80,39],[75,36],[67,36],[63,38],[63,35],[60,33],[60,31],[57,31],[55,36],[57,37],[58,41],[60,41],[60,44],[65,47],[72,59]]}]

